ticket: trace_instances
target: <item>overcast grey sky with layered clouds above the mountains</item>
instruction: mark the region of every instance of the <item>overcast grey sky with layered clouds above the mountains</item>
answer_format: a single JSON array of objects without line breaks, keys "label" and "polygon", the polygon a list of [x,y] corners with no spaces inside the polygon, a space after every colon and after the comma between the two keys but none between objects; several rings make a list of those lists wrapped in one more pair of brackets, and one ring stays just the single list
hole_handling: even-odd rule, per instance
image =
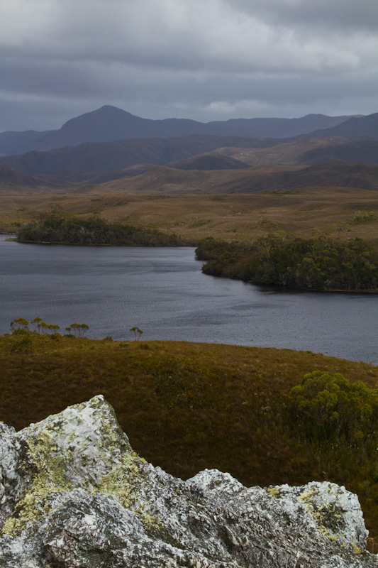
[{"label": "overcast grey sky with layered clouds above the mountains", "polygon": [[378,111],[377,0],[0,0],[0,131]]}]

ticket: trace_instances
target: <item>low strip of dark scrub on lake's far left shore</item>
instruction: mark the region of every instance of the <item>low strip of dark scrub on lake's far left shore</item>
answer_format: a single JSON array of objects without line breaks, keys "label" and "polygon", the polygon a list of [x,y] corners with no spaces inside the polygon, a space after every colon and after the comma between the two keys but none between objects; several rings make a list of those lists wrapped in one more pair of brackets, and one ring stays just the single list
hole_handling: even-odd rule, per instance
[{"label": "low strip of dark scrub on lake's far left shore", "polygon": [[81,245],[187,246],[187,239],[145,226],[106,222],[100,217],[76,217],[67,212],[43,214],[36,222],[22,226],[17,239],[23,243]]}]

